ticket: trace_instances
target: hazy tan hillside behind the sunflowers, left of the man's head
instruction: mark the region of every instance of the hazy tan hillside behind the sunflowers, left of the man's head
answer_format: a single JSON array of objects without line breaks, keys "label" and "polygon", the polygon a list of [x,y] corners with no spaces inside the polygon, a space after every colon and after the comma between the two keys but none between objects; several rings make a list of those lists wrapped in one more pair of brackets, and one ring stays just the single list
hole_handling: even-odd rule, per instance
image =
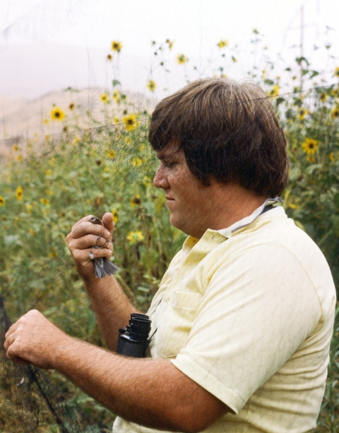
[{"label": "hazy tan hillside behind the sunflowers, left of the man's head", "polygon": [[[52,137],[64,127],[69,131],[87,129],[113,123],[114,117],[121,119],[123,110],[153,110],[154,102],[141,93],[124,92],[126,104],[119,105],[112,99],[112,92],[108,94],[110,103],[103,103],[100,95],[104,92],[102,88],[85,88],[55,91],[34,100],[0,97],[0,155],[12,154],[14,144],[32,137]],[[54,105],[65,112],[62,122],[51,118]]]}]

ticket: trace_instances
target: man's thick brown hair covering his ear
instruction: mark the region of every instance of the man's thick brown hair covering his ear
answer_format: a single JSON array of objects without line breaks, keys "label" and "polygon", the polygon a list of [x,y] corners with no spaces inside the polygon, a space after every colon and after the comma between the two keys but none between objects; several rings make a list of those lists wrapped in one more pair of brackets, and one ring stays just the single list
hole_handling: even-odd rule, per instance
[{"label": "man's thick brown hair covering his ear", "polygon": [[285,134],[268,97],[251,82],[189,83],[156,106],[148,138],[155,151],[179,144],[206,186],[215,178],[273,197],[287,184]]}]

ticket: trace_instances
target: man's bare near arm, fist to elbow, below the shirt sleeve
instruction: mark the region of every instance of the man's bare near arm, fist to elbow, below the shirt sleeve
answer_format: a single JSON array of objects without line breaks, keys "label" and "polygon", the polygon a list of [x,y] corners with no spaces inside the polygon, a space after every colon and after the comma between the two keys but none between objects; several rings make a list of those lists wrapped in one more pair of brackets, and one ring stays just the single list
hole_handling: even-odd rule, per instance
[{"label": "man's bare near arm, fist to elbow, below the shirt sleeve", "polygon": [[57,369],[102,405],[147,427],[195,433],[227,407],[167,359],[133,359],[66,335],[37,310],[8,329],[9,359]]}]

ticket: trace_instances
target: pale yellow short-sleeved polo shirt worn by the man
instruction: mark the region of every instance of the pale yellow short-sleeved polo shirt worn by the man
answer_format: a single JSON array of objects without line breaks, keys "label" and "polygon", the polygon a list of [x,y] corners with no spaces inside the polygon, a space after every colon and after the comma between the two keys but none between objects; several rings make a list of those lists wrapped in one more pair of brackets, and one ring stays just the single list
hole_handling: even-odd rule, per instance
[{"label": "pale yellow short-sleeved polo shirt worn by the man", "polygon": [[[309,432],[333,333],[331,272],[282,207],[237,227],[186,239],[148,311],[150,354],[230,408],[205,432]],[[113,432],[157,430],[117,418]]]}]

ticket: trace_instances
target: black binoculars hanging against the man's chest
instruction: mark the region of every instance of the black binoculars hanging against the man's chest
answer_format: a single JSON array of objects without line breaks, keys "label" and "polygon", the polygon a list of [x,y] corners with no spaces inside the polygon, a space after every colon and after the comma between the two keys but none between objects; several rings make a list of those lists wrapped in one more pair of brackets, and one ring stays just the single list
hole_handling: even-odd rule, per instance
[{"label": "black binoculars hanging against the man's chest", "polygon": [[125,357],[143,358],[150,344],[150,318],[145,314],[131,313],[129,325],[119,329],[117,353]]}]

